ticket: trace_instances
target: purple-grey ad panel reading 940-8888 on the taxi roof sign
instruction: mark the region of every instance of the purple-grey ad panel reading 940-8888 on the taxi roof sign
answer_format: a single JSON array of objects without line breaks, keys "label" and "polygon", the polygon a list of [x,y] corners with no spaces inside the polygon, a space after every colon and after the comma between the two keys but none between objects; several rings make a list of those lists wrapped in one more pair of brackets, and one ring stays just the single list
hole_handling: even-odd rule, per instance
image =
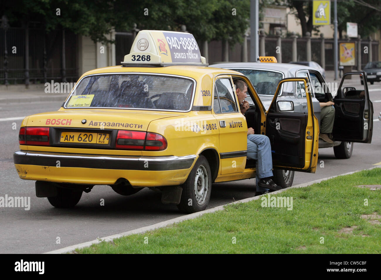
[{"label": "purple-grey ad panel reading 940-8888 on the taxi roof sign", "polygon": [[192,34],[163,32],[172,62],[201,62],[199,46]]}]

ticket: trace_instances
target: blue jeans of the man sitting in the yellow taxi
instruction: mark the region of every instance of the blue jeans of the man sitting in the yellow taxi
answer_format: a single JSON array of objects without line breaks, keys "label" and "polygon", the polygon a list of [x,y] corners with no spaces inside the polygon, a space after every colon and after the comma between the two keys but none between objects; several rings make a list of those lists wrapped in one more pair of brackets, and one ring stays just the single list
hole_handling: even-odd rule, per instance
[{"label": "blue jeans of the man sitting in the yellow taxi", "polygon": [[256,191],[266,192],[268,189],[259,187],[258,182],[259,178],[273,175],[270,139],[262,134],[249,134],[247,136],[247,158],[256,160]]}]

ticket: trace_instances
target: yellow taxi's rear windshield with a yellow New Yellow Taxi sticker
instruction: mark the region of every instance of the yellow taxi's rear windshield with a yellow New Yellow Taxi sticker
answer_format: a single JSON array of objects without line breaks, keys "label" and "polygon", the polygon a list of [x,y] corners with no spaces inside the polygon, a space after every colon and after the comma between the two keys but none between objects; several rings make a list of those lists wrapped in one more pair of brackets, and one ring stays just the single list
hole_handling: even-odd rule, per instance
[{"label": "yellow taxi's rear windshield with a yellow New Yellow Taxi sticker", "polygon": [[65,108],[190,110],[194,81],[153,74],[94,75],[83,78]]}]

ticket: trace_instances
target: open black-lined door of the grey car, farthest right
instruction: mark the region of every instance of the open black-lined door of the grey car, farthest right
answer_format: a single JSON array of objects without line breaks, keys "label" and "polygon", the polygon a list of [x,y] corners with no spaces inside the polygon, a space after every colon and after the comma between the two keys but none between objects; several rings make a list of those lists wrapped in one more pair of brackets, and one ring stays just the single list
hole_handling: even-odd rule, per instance
[{"label": "open black-lined door of the grey car, farthest right", "polygon": [[335,141],[370,143],[373,132],[373,104],[369,99],[365,72],[344,74],[333,101]]}]

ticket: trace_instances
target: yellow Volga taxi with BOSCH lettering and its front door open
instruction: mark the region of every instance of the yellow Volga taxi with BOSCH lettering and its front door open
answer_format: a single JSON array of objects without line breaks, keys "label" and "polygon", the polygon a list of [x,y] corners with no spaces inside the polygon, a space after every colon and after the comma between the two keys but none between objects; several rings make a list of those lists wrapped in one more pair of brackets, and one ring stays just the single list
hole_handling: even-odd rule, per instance
[{"label": "yellow Volga taxi with BOSCH lettering and its front door open", "polygon": [[[235,79],[254,101],[248,118]],[[308,114],[277,101],[295,82],[304,82]],[[212,183],[255,178],[248,127],[270,138],[274,168],[315,172],[319,124],[306,83],[283,79],[266,112],[245,75],[205,64],[192,34],[141,30],[121,66],[86,72],[59,110],[22,121],[14,164],[55,207],[108,185],[121,195],[159,188],[163,203],[204,210]]]}]

